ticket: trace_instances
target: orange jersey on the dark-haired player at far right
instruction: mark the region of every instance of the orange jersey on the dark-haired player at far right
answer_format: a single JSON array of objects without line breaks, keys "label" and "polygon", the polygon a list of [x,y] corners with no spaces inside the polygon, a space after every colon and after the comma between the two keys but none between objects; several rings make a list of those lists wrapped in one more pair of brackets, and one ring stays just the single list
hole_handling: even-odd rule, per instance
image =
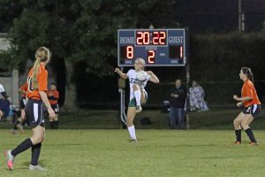
[{"label": "orange jersey on the dark-haired player at far right", "polygon": [[245,96],[252,97],[252,100],[243,102],[243,105],[245,107],[248,107],[252,104],[261,104],[259,97],[257,95],[256,89],[254,88],[254,84],[250,80],[246,80],[244,82],[244,85],[241,89],[241,96],[242,97],[245,97]]}]

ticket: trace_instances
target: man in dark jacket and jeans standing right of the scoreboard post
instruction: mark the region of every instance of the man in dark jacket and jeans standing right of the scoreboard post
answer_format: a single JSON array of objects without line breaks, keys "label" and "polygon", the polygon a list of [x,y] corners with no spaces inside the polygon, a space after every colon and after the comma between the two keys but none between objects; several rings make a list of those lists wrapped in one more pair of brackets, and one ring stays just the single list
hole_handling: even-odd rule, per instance
[{"label": "man in dark jacket and jeans standing right of the scoreboard post", "polygon": [[186,88],[181,80],[176,80],[170,91],[170,129],[184,128],[184,108],[186,104]]}]

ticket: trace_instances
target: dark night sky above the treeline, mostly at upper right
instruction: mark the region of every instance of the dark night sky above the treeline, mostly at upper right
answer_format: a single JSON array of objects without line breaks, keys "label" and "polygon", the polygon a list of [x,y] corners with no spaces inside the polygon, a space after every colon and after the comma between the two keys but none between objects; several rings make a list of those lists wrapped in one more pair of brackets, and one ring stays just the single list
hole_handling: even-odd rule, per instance
[{"label": "dark night sky above the treeline, mostly at upper right", "polygon": [[[239,29],[239,0],[169,0],[175,2],[172,17],[193,33],[226,33]],[[14,5],[16,8],[16,5]],[[265,0],[242,0],[246,31],[261,30]],[[0,33],[4,32],[0,19]]]}]

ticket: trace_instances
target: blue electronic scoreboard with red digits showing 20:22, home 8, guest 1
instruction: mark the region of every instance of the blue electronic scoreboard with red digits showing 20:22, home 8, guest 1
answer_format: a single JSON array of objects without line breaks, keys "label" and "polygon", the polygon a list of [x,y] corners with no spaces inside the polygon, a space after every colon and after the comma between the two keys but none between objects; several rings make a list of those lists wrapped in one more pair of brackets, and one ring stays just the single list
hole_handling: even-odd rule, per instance
[{"label": "blue electronic scoreboard with red digits showing 20:22, home 8, guest 1", "polygon": [[143,58],[146,66],[186,65],[186,29],[117,30],[117,64],[133,66]]}]

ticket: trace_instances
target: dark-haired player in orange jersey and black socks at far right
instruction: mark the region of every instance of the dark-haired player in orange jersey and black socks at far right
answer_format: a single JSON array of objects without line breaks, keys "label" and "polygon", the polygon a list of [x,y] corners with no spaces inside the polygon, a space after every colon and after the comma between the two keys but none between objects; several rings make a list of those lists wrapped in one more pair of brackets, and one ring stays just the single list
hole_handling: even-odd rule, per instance
[{"label": "dark-haired player in orange jersey and black socks at far right", "polygon": [[244,106],[244,110],[234,119],[233,124],[236,134],[235,144],[241,144],[241,129],[246,132],[250,140],[250,145],[258,145],[254,133],[249,127],[253,122],[254,116],[261,111],[261,102],[254,88],[254,75],[248,67],[242,67],[239,73],[240,80],[244,81],[241,89],[241,97],[234,95],[233,98],[238,101],[237,106]]}]

